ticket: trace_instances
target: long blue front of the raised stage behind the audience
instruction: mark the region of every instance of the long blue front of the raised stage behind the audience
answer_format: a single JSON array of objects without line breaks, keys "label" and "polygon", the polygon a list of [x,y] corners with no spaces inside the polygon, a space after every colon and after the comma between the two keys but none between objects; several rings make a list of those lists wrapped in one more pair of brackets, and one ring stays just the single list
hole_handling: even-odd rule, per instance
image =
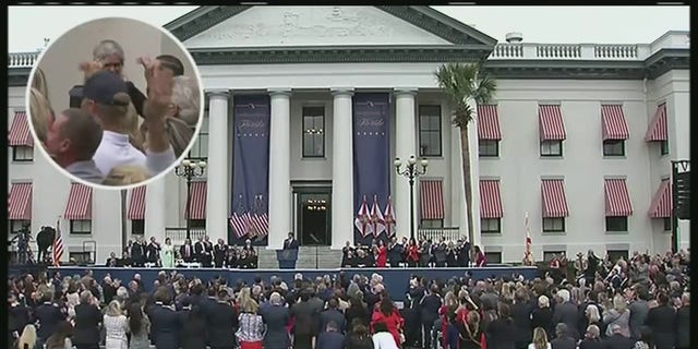
[{"label": "long blue front of the raised stage behind the audience", "polygon": [[386,289],[390,293],[390,298],[394,300],[404,300],[405,291],[408,287],[408,280],[412,275],[425,276],[429,279],[442,279],[444,281],[452,277],[461,277],[466,275],[466,272],[474,279],[486,279],[507,277],[512,278],[513,275],[522,275],[525,279],[532,279],[538,277],[537,267],[525,266],[488,266],[482,268],[330,268],[330,269],[215,269],[215,268],[133,268],[133,267],[99,267],[99,266],[62,266],[62,267],[49,267],[49,273],[60,270],[62,276],[68,275],[84,275],[87,270],[93,270],[95,278],[101,280],[105,275],[110,274],[112,278],[118,278],[124,284],[133,278],[134,274],[141,274],[146,290],[153,288],[153,281],[157,278],[157,274],[160,270],[171,273],[177,270],[179,274],[183,274],[185,277],[198,277],[203,280],[212,279],[216,276],[221,276],[228,279],[229,285],[233,285],[238,280],[244,280],[248,284],[253,284],[254,278],[260,276],[263,280],[268,281],[269,278],[275,275],[282,278],[287,284],[293,280],[297,273],[301,273],[304,278],[314,279],[317,276],[324,275],[338,275],[344,270],[347,277],[351,278],[354,274],[365,275],[371,277],[373,273],[378,273],[383,276],[383,282]]}]

